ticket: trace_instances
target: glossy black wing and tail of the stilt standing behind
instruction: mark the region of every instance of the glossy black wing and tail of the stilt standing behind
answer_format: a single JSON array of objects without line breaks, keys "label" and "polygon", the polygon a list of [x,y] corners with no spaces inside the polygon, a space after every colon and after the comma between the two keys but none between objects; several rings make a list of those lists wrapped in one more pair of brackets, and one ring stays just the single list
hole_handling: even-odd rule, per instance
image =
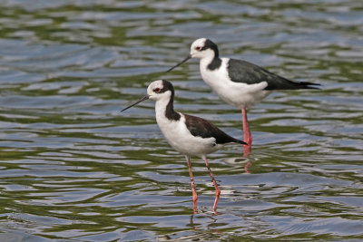
[{"label": "glossy black wing and tail of the stilt standing behind", "polygon": [[319,84],[292,82],[280,75],[270,73],[256,64],[237,59],[230,59],[228,73],[232,82],[243,82],[246,84],[267,82],[268,86],[265,90],[319,89],[314,86]]}]

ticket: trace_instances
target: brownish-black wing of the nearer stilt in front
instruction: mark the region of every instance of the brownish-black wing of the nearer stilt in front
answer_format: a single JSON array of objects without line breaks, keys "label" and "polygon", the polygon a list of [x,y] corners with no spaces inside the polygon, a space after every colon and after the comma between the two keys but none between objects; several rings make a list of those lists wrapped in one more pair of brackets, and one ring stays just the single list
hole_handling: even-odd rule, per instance
[{"label": "brownish-black wing of the nearer stilt in front", "polygon": [[215,138],[217,144],[231,142],[245,144],[242,140],[234,139],[227,133],[221,131],[209,121],[188,114],[184,114],[184,116],[185,124],[193,136],[201,138]]}]

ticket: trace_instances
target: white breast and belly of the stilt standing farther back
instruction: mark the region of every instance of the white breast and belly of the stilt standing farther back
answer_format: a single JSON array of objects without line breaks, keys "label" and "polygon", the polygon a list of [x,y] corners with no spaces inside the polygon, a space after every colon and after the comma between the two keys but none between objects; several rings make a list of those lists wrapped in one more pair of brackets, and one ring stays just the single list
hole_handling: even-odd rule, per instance
[{"label": "white breast and belly of the stilt standing farther back", "polygon": [[256,102],[260,102],[270,92],[264,91],[267,82],[256,84],[247,84],[242,82],[231,82],[228,75],[229,58],[221,58],[221,66],[213,71],[208,69],[208,64],[211,63],[208,59],[201,59],[200,69],[201,78],[206,82],[214,92],[221,97],[224,102],[227,102],[235,107],[250,106]]}]

